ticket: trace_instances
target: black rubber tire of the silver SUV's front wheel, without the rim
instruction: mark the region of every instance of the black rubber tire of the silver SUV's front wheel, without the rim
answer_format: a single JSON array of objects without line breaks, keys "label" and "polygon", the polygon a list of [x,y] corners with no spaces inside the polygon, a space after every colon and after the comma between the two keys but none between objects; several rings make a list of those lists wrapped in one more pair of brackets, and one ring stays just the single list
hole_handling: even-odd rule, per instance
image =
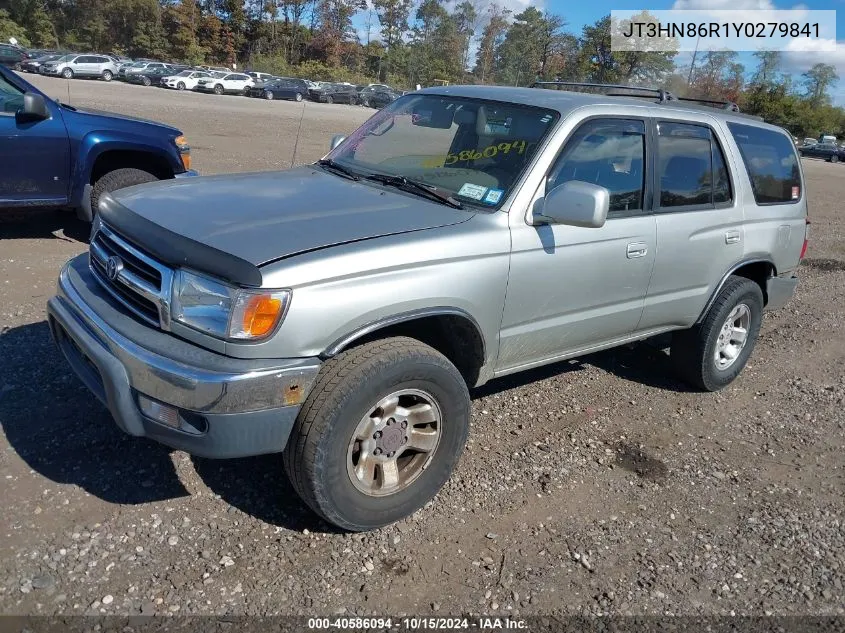
[{"label": "black rubber tire of the silver SUV's front wheel, without the rim", "polygon": [[[385,496],[361,492],[347,471],[359,421],[399,389],[431,394],[442,413],[431,461],[406,488]],[[469,432],[466,383],[445,356],[405,337],[343,352],[320,372],[284,451],[285,470],[302,500],[324,520],[349,531],[388,525],[423,507],[449,479]]]}]

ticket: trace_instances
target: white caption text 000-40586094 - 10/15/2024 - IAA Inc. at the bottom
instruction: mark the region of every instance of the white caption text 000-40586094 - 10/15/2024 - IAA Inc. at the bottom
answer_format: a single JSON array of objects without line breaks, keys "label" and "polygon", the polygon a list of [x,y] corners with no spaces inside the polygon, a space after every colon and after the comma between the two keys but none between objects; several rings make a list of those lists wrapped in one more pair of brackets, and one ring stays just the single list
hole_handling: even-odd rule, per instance
[{"label": "white caption text 000-40586094 - 10/15/2024 - IAA Inc. at the bottom", "polygon": [[480,632],[521,630],[528,631],[525,620],[507,617],[335,617],[309,618],[309,630],[353,630],[353,631],[466,631]]}]

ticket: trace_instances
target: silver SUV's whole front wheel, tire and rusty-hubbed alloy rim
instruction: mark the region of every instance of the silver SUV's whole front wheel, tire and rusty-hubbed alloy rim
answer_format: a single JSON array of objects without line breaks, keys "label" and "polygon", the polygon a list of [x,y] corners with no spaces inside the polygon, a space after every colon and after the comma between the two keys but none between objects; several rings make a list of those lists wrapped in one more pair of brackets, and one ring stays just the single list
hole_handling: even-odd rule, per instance
[{"label": "silver SUV's whole front wheel, tire and rusty-hubbed alloy rim", "polygon": [[323,367],[284,452],[303,501],[351,531],[406,517],[449,479],[469,431],[469,392],[433,348],[367,343]]}]

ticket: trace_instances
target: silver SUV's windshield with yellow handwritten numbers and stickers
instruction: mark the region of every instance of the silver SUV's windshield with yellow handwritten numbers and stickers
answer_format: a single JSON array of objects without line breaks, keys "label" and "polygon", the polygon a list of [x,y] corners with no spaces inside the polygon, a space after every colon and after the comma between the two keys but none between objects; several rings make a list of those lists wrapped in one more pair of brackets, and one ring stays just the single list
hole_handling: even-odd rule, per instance
[{"label": "silver SUV's windshield with yellow handwritten numbers and stickers", "polygon": [[404,176],[493,208],[558,116],[513,103],[408,95],[375,114],[327,158],[356,174]]}]

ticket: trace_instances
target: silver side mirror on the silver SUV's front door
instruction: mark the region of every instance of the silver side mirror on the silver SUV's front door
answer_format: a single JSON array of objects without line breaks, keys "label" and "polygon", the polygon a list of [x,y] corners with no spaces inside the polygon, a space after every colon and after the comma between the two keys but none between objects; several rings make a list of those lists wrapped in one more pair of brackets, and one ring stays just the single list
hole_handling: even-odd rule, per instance
[{"label": "silver side mirror on the silver SUV's front door", "polygon": [[546,194],[534,224],[567,224],[598,229],[610,208],[610,192],[599,185],[570,180]]}]

